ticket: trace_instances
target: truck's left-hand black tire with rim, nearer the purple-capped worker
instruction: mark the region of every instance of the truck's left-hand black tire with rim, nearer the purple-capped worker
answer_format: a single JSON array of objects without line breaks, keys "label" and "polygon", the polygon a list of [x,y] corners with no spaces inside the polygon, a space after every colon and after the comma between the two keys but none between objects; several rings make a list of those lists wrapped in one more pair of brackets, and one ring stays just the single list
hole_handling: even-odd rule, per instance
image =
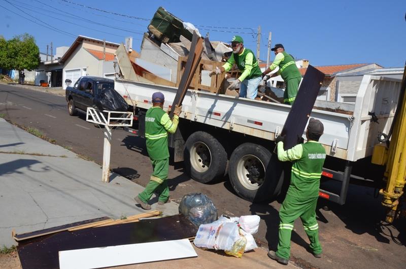
[{"label": "truck's left-hand black tire with rim, nearer the purple-capped worker", "polygon": [[227,153],[210,133],[196,131],[184,149],[184,167],[189,176],[201,183],[213,183],[225,175]]}]

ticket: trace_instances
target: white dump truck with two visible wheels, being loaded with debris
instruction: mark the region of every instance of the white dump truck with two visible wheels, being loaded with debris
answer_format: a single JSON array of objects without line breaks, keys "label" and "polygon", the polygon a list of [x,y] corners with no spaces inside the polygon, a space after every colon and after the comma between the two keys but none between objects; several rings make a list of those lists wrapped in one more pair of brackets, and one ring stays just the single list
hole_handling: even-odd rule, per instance
[{"label": "white dump truck with two visible wheels, being loaded with debris", "polygon": [[[118,65],[121,74],[131,68]],[[379,134],[389,132],[400,84],[399,79],[364,76],[355,104],[316,102],[310,116],[325,126],[320,139],[328,155],[323,180],[341,185],[335,192],[320,189],[321,197],[343,205],[350,181],[381,187],[383,168],[371,164],[371,156],[380,143]],[[152,106],[153,92],[165,95],[165,109],[177,92],[176,86],[125,77],[115,80],[115,89],[137,111],[139,126]],[[198,182],[212,183],[228,174],[238,195],[267,201],[280,193],[285,179],[274,173],[280,163],[273,161],[272,151],[289,110],[289,105],[190,89],[183,100],[178,131],[170,139],[174,160],[183,160],[185,171]],[[143,129],[137,134],[144,137]]]}]

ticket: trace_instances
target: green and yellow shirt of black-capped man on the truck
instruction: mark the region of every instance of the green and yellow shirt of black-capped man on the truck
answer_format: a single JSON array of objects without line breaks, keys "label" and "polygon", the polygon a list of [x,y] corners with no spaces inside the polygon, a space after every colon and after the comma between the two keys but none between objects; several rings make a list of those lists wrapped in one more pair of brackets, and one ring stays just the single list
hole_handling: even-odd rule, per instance
[{"label": "green and yellow shirt of black-capped man on the truck", "polygon": [[274,61],[269,65],[269,70],[273,71],[277,66],[279,66],[278,75],[281,75],[285,82],[290,79],[301,78],[293,57],[285,51],[279,52],[275,56]]}]

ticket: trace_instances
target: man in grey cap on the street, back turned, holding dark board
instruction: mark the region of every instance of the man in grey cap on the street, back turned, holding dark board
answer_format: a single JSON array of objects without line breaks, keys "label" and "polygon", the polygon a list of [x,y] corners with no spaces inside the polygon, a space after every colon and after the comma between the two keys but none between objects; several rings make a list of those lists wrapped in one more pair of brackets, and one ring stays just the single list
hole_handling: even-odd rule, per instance
[{"label": "man in grey cap on the street, back turned, holding dark board", "polygon": [[276,139],[278,159],[292,161],[291,179],[286,198],[279,210],[278,250],[269,251],[268,256],[282,264],[290,257],[290,236],[294,221],[300,217],[304,231],[310,240],[310,248],[316,258],[321,258],[319,226],[316,221],[316,205],[319,196],[322,167],[326,158],[323,146],[318,142],[323,134],[321,121],[311,118],[306,130],[308,142],[284,150],[284,137]]}]

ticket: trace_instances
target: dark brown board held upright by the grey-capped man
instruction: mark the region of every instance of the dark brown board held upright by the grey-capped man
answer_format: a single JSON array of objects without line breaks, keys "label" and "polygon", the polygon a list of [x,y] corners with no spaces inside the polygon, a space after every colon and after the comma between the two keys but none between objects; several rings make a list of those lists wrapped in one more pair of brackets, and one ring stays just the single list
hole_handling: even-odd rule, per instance
[{"label": "dark brown board held upright by the grey-capped man", "polygon": [[324,73],[309,65],[300,84],[295,102],[283,125],[281,135],[285,137],[284,149],[290,149],[299,143],[307,125],[317,94],[320,91]]}]

